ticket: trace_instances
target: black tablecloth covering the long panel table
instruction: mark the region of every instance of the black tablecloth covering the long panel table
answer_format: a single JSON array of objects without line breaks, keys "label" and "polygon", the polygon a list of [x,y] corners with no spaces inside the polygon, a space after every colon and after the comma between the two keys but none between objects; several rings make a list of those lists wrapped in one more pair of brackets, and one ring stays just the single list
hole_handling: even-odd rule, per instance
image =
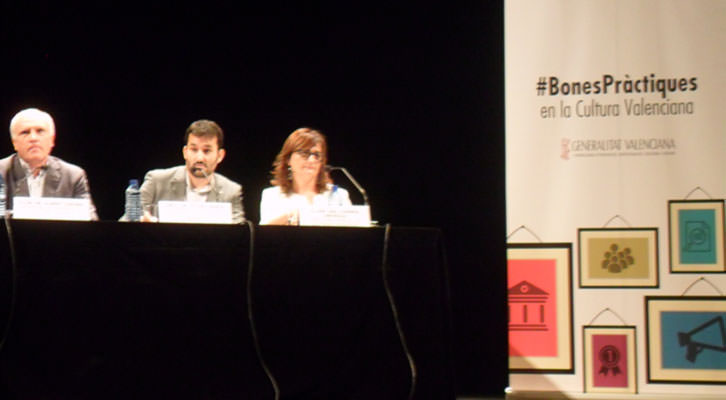
[{"label": "black tablecloth covering the long panel table", "polygon": [[454,397],[439,230],[1,231],[2,398]]}]

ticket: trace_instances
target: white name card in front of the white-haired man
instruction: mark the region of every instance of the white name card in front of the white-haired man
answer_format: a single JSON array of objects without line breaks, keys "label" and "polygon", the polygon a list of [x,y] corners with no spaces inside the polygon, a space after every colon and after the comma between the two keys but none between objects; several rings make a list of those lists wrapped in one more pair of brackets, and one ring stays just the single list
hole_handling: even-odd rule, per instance
[{"label": "white name card in front of the white-haired man", "polygon": [[91,201],[66,197],[14,197],[13,218],[90,221]]}]

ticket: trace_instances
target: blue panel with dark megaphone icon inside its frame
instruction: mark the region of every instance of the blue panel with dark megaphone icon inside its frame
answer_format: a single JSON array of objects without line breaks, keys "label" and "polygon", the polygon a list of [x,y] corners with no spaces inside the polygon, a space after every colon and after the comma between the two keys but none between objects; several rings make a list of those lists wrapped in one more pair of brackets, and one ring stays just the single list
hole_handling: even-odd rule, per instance
[{"label": "blue panel with dark megaphone icon inside its frame", "polygon": [[663,368],[726,370],[726,313],[664,311],[660,317]]}]

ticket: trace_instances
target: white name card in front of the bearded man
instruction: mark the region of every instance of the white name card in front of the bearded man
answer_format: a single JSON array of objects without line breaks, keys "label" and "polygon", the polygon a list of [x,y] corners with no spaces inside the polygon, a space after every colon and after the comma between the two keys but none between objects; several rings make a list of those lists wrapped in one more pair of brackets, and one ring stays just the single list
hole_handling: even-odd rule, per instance
[{"label": "white name card in front of the bearded man", "polygon": [[159,201],[159,222],[231,224],[232,204],[222,202]]}]

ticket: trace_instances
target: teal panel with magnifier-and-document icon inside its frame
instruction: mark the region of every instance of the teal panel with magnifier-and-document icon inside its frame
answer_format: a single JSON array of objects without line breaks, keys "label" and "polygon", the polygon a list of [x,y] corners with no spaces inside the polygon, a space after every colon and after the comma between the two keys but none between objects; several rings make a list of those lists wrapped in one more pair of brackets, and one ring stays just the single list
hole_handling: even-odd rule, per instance
[{"label": "teal panel with magnifier-and-document icon inside its frame", "polygon": [[716,211],[678,210],[681,264],[716,263]]}]

